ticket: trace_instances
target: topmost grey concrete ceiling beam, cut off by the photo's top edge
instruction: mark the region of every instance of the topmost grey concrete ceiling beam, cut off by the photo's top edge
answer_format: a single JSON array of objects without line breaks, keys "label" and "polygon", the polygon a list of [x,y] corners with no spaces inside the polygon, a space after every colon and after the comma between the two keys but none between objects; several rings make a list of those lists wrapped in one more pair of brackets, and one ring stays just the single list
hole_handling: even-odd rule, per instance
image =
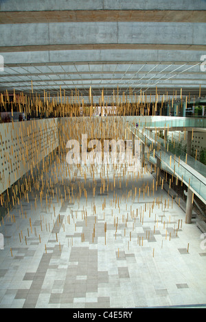
[{"label": "topmost grey concrete ceiling beam, cut off by the photo's top edge", "polygon": [[10,0],[1,1],[1,11],[49,10],[206,10],[203,0]]}]

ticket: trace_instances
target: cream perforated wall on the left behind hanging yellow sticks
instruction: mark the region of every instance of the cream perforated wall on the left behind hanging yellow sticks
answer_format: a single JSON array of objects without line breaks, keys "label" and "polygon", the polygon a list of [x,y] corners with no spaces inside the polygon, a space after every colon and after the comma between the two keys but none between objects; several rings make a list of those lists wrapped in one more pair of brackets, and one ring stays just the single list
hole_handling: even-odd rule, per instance
[{"label": "cream perforated wall on the left behind hanging yellow sticks", "polygon": [[58,147],[58,119],[0,124],[0,194]]}]

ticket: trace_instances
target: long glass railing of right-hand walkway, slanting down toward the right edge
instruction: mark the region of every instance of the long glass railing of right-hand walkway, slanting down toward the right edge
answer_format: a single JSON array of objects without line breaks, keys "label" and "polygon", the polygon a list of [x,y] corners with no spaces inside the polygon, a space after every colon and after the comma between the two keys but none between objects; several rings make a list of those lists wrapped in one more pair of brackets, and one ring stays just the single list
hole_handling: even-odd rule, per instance
[{"label": "long glass railing of right-hand walkway, slanting down toward the right edge", "polygon": [[[201,162],[198,162],[193,158],[193,160],[185,160],[185,158],[188,158],[188,156],[185,156],[186,153],[183,151],[180,153],[177,149],[176,152],[179,152],[179,156],[175,155],[168,147],[165,147],[161,142],[155,139],[153,137],[154,135],[151,135],[146,129],[136,129],[133,125],[130,125],[130,129],[144,142],[153,155],[155,154],[155,156],[158,156],[161,161],[165,162],[169,169],[174,171],[174,174],[179,175],[179,178],[183,179],[188,186],[191,186],[203,200],[206,200],[206,180],[199,175],[200,171],[197,170],[199,163],[201,164]],[[163,143],[165,143],[164,140]],[[187,161],[187,163],[185,161]],[[188,164],[188,161],[190,164],[191,162],[194,162],[194,166]],[[204,166],[204,164],[201,165]],[[194,171],[194,169],[196,169],[196,171]],[[204,170],[203,172],[205,173],[205,169],[201,168],[201,170]]]}]

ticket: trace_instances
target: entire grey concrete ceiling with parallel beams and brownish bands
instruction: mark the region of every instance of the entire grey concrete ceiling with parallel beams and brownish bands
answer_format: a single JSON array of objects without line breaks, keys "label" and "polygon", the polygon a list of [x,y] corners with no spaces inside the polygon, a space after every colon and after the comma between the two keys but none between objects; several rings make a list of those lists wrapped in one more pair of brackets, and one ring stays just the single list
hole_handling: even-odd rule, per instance
[{"label": "entire grey concrete ceiling with parallel beams and brownish bands", "polygon": [[205,0],[0,3],[0,91],[206,95]]}]

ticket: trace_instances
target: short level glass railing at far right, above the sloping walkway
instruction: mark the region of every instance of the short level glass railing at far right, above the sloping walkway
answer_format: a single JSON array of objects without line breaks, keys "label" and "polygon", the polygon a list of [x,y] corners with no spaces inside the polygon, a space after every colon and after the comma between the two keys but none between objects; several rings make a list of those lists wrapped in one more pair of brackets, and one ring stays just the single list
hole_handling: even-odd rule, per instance
[{"label": "short level glass railing at far right, above the sloping walkway", "polygon": [[174,120],[163,120],[163,121],[151,121],[151,122],[140,122],[139,127],[161,127],[167,129],[168,127],[206,127],[206,119],[192,119],[192,118],[181,118]]}]

